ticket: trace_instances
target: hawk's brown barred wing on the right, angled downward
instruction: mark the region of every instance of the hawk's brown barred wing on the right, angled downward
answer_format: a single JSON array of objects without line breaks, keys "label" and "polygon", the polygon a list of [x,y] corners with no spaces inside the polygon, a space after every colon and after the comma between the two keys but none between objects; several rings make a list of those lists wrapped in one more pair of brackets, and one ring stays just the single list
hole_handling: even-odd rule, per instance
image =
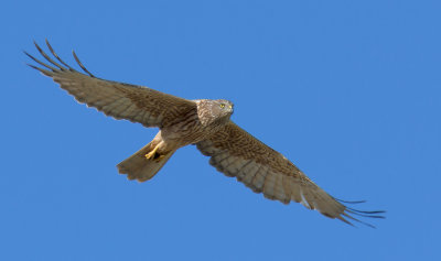
[{"label": "hawk's brown barred wing on the right, angled downward", "polygon": [[[352,225],[345,218],[359,221],[351,214],[383,218],[384,211],[359,211],[344,206],[279,152],[229,122],[208,140],[196,143],[197,149],[211,156],[209,164],[227,176],[235,176],[256,193],[269,199],[301,203],[330,218]],[[363,221],[361,221],[363,222]],[[363,222],[365,224],[365,222]],[[365,224],[372,226],[369,224]]]}]

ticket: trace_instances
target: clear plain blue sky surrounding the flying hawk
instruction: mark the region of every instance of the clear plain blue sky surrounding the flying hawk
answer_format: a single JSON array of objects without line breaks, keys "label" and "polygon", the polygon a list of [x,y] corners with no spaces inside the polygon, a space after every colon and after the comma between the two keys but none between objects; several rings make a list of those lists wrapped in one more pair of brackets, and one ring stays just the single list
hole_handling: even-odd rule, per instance
[{"label": "clear plain blue sky surrounding the flying hawk", "polygon": [[[2,1],[0,260],[441,260],[440,1]],[[377,229],[252,193],[157,129],[25,66],[49,39],[98,77],[235,102],[233,119]]]}]

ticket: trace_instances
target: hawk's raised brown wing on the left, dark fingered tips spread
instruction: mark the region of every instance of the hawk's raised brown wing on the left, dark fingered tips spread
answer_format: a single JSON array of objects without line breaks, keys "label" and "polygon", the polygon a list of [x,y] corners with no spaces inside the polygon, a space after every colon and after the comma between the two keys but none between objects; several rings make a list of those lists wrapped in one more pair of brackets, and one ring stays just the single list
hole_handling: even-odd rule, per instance
[{"label": "hawk's raised brown wing on the left, dark fingered tips spread", "polygon": [[82,74],[64,63],[47,40],[46,44],[60,63],[45,54],[35,43],[36,48],[49,64],[25,52],[29,57],[43,67],[30,66],[53,78],[63,89],[73,95],[77,101],[95,107],[107,116],[139,122],[146,127],[161,128],[179,119],[182,113],[196,109],[195,102],[191,100],[142,86],[97,78],[83,66],[74,52],[73,55],[76,62],[88,75]]}]

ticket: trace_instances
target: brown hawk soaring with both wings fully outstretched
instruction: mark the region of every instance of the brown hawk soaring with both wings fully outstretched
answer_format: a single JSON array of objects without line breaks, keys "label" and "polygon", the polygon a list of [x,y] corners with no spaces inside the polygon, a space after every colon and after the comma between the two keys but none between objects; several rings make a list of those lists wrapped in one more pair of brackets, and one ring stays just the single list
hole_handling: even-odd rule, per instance
[{"label": "brown hawk soaring with both wings fully outstretched", "polygon": [[236,177],[266,198],[283,204],[301,203],[349,225],[355,220],[372,226],[354,215],[384,218],[380,215],[384,211],[362,211],[345,206],[344,203],[361,202],[332,197],[281,153],[234,123],[230,120],[232,101],[187,100],[148,87],[101,79],[86,69],[75,52],[73,56],[84,73],[63,62],[47,40],[53,57],[34,44],[49,63],[24,52],[42,67],[29,66],[51,77],[77,101],[116,119],[159,128],[150,143],[117,165],[119,173],[127,174],[129,180],[144,182],[152,178],[178,149],[195,144],[202,154],[211,157],[209,164],[217,171]]}]

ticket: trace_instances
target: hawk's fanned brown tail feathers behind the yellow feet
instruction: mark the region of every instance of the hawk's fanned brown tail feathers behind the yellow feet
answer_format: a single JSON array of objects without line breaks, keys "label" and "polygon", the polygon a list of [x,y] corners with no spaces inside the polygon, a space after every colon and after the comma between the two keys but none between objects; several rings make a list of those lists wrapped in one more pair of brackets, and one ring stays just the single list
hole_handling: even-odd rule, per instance
[{"label": "hawk's fanned brown tail feathers behind the yellow feet", "polygon": [[175,151],[169,152],[160,159],[147,159],[146,154],[151,151],[150,143],[137,151],[133,155],[120,162],[117,167],[120,174],[127,174],[129,180],[146,182],[152,178],[169,161]]}]

